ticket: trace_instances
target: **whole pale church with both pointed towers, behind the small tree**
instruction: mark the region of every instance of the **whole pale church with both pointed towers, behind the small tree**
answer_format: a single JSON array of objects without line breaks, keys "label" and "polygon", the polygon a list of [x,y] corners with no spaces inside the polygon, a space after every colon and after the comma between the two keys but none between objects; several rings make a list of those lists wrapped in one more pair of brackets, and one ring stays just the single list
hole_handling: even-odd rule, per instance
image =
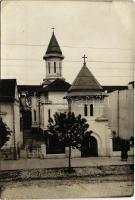
[{"label": "whole pale church with both pointed towers, behind the small tree", "polygon": [[[45,132],[48,120],[53,117],[55,112],[71,111],[75,115],[81,114],[90,124],[92,134],[89,137],[87,150],[84,152],[72,150],[72,154],[75,157],[111,156],[111,129],[103,109],[104,98],[107,94],[88,69],[86,56],[83,57],[82,69],[72,85],[66,82],[62,75],[64,56],[54,31],[43,59],[46,63],[46,77],[41,86],[37,86],[37,88],[35,86],[35,91],[31,95],[32,129],[35,131],[40,129],[40,131]],[[27,89],[27,86],[20,88],[21,99],[23,99],[23,93],[26,93]],[[51,136],[47,138],[46,154],[65,154],[66,156],[66,150],[63,148],[54,149],[53,143],[54,139]]]}]

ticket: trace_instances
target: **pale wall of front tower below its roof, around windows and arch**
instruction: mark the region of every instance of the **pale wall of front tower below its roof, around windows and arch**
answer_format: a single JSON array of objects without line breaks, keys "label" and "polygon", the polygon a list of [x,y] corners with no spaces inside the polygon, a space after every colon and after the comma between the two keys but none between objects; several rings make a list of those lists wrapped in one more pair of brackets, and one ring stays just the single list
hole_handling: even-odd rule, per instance
[{"label": "pale wall of front tower below its roof, around windows and arch", "polygon": [[[84,105],[86,103],[88,105],[88,116],[84,116]],[[90,116],[90,104],[93,104],[94,116]],[[112,139],[108,121],[95,121],[96,118],[103,115],[103,100],[73,100],[71,103],[71,111],[75,115],[81,114],[82,117],[86,118],[89,124],[89,130],[92,130],[92,136],[96,138],[98,143],[98,156],[110,156],[112,152]]]}]

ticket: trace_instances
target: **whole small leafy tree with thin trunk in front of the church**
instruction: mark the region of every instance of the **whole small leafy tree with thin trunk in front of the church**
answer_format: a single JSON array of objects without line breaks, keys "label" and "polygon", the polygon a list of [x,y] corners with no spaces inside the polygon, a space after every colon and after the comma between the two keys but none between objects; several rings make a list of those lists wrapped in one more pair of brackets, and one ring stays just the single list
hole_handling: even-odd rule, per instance
[{"label": "whole small leafy tree with thin trunk in front of the church", "polygon": [[48,131],[53,135],[56,134],[59,141],[69,148],[69,172],[71,172],[71,149],[80,149],[85,134],[90,133],[87,131],[88,128],[86,119],[81,115],[75,116],[73,112],[55,113],[54,119],[49,120]]}]

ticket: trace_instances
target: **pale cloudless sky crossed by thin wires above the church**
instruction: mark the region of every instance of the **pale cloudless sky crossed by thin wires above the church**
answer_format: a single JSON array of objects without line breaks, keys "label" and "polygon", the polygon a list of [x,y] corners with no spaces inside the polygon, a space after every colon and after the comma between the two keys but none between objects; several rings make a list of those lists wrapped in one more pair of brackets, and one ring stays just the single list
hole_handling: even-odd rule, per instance
[{"label": "pale cloudless sky crossed by thin wires above the church", "polygon": [[79,73],[85,54],[101,85],[127,85],[134,75],[133,9],[132,1],[2,1],[1,77],[41,84],[54,26],[67,82]]}]

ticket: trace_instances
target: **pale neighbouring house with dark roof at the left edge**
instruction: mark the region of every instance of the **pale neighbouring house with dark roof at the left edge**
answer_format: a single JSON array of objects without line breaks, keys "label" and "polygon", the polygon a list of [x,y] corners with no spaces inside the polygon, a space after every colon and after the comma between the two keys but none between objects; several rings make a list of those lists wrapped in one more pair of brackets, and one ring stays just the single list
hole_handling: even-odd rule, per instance
[{"label": "pale neighbouring house with dark roof at the left edge", "polygon": [[20,108],[15,79],[0,80],[0,117],[11,130],[10,140],[4,147],[21,146],[23,137],[22,132],[20,132]]}]

